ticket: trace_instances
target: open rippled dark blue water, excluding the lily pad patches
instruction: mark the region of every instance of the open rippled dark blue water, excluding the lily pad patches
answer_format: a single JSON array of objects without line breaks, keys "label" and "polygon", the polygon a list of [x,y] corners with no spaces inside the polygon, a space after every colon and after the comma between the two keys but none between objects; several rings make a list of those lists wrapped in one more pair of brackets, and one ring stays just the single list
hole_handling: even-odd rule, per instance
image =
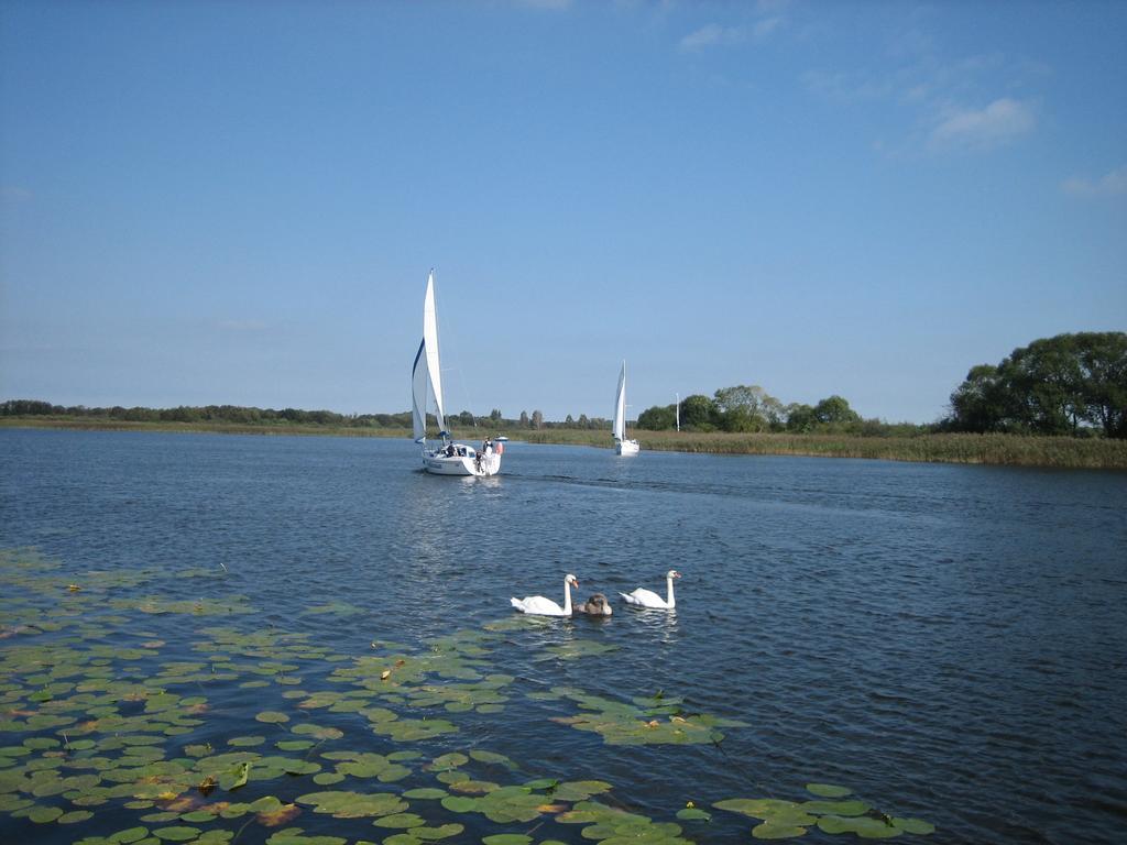
[{"label": "open rippled dark blue water, excluding the lily pad patches", "polygon": [[[488,748],[518,762],[524,780],[603,780],[615,806],[655,821],[675,820],[690,800],[802,801],[805,784],[824,782],[934,824],[929,842],[1120,839],[1122,473],[620,459],[526,444],[509,446],[492,479],[436,478],[417,463],[401,441],[0,430],[0,549],[36,546],[66,572],[225,569],[166,594],[242,594],[254,613],[186,625],[153,617],[162,660],[198,659],[192,644],[207,624],[308,633],[349,660],[381,639],[417,647],[508,619],[512,595],[561,602],[573,572],[577,597],[606,593],[614,615],[499,640],[492,670],[515,676],[504,713],[440,708],[459,733],[418,747]],[[663,592],[669,568],[683,575],[675,613],[618,598],[638,586]],[[356,610],[307,612],[334,604]],[[618,650],[579,660],[543,651],[576,640]],[[0,640],[0,652],[23,641]],[[748,727],[725,728],[718,745],[606,745],[551,721],[558,704],[527,697],[557,685],[623,702],[663,691]],[[277,691],[248,695],[236,684],[206,694],[222,719],[197,732],[216,744],[261,728],[254,714],[264,706],[287,706]],[[23,739],[0,732],[0,745]],[[390,750],[367,732],[348,740]],[[307,782],[283,798],[318,789],[332,788]],[[0,812],[0,839],[6,827],[64,843],[128,826],[98,826],[112,810],[94,809],[72,829]],[[452,840],[492,831],[462,821]],[[349,842],[392,833],[326,827],[309,812],[293,824]],[[683,835],[746,842],[754,824],[715,811]],[[251,826],[239,842],[269,834]],[[535,835],[587,840],[550,819]],[[811,827],[804,840],[852,838]]]}]

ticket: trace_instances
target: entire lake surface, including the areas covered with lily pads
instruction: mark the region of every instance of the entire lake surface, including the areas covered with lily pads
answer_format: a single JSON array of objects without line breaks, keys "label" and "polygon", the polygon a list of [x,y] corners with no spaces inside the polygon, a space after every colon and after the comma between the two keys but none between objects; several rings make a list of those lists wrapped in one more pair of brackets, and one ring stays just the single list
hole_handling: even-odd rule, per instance
[{"label": "entire lake surface, including the areas covered with lily pads", "polygon": [[[592,800],[650,819],[629,821],[631,842],[748,842],[760,821],[712,804],[810,801],[811,783],[848,788],[870,821],[937,828],[900,842],[1122,840],[1124,473],[520,443],[491,479],[418,463],[405,441],[0,430],[0,840],[140,826],[160,840],[300,842],[300,828],[411,845],[444,824],[461,825],[445,842],[604,839],[567,817],[584,788],[553,781],[610,784]],[[619,599],[662,592],[671,568],[675,612]],[[561,602],[568,572],[614,615],[509,607]],[[393,720],[442,732],[389,735]],[[470,750],[489,754],[432,763]],[[184,790],[240,751],[260,755],[241,790]],[[348,754],[397,751],[394,776],[334,780]],[[177,759],[195,766],[179,785]],[[147,773],[174,785],[83,798]],[[534,819],[470,807],[538,779]],[[471,800],[414,792],[402,803],[425,825],[399,828],[313,800],[273,826],[201,816],[220,800],[419,789]],[[711,820],[678,820],[690,801]],[[789,818],[804,842],[855,840]]]}]

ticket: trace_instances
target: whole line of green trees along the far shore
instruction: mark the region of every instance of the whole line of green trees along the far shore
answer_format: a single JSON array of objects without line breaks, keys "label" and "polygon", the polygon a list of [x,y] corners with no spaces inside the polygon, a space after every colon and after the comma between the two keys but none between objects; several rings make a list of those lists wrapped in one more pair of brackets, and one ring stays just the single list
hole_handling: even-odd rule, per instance
[{"label": "whole line of green trees along the far shore", "polygon": [[[654,406],[638,415],[636,427],[671,430],[674,404]],[[721,388],[711,397],[693,394],[680,407],[681,427],[689,432],[786,432],[791,434],[913,435],[974,432],[1104,436],[1127,438],[1127,333],[1079,332],[1035,340],[1014,349],[999,364],[979,364],[951,393],[949,413],[929,425],[889,424],[864,419],[841,395],[815,404],[784,404],[758,385]],[[178,408],[62,407],[28,399],[0,403],[0,417],[73,417],[130,422],[228,424],[247,426],[322,426],[336,428],[407,428],[410,411],[336,413],[295,408],[243,408],[208,404]],[[434,418],[431,417],[433,422]],[[494,408],[486,417],[470,411],[449,415],[450,425],[498,430],[610,430],[602,417],[568,415],[550,421],[539,410],[505,418]]]}]

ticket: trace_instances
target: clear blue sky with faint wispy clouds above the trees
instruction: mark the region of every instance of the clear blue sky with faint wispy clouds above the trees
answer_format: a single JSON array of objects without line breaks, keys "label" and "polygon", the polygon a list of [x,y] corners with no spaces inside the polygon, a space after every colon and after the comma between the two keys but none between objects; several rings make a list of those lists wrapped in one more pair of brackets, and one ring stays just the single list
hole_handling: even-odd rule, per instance
[{"label": "clear blue sky with faint wispy clouds above the trees", "polygon": [[0,399],[925,422],[1127,329],[1127,3],[5,2]]}]

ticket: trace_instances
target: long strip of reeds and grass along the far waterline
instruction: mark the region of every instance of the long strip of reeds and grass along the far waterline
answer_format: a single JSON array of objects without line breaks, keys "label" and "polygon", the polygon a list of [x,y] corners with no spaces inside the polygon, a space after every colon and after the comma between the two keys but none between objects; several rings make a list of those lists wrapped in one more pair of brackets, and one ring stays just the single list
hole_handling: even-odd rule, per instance
[{"label": "long strip of reeds and grass along the far waterline", "polygon": [[[406,428],[318,425],[240,425],[232,422],[132,422],[76,417],[5,417],[0,428],[60,428],[107,432],[184,432],[211,434],[291,435],[321,437],[409,438]],[[506,435],[525,443],[569,444],[610,448],[610,432],[570,428],[455,428],[459,439]],[[690,452],[717,455],[806,455],[860,457],[920,463],[964,463],[1001,466],[1127,470],[1127,441],[1099,437],[1030,437],[1014,434],[920,434],[855,437],[818,434],[729,434],[633,432],[642,452]]]}]

